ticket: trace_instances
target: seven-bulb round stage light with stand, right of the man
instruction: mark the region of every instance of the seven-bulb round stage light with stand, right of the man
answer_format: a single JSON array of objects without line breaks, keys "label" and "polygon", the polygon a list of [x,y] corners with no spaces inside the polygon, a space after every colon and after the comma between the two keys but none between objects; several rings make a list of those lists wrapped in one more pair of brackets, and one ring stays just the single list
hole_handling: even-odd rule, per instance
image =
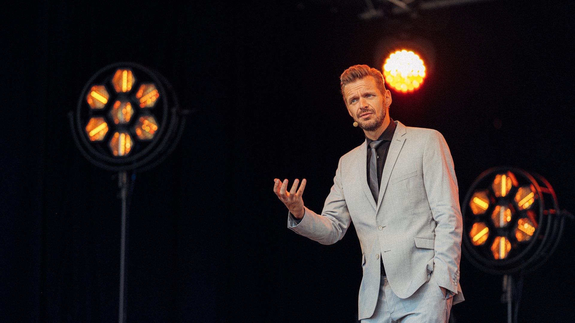
[{"label": "seven-bulb round stage light with stand, right of the man", "polygon": [[482,172],[462,203],[463,255],[477,268],[503,276],[508,323],[519,311],[523,276],[554,252],[565,217],[545,178],[520,168],[493,167]]}]

